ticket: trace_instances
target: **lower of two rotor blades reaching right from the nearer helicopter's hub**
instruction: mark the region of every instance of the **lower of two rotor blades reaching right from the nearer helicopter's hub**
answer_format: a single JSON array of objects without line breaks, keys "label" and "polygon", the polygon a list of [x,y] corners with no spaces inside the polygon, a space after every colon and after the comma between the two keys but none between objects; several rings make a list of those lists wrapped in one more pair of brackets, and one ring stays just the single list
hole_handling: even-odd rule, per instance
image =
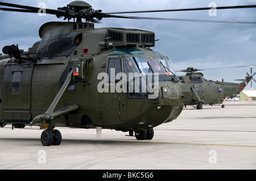
[{"label": "lower of two rotor blades reaching right from the nearer helicopter's hub", "polygon": [[236,21],[225,21],[225,20],[200,20],[200,19],[173,19],[173,18],[150,18],[140,16],[116,16],[105,14],[103,18],[128,18],[128,19],[146,19],[146,20],[166,20],[166,21],[177,21],[177,22],[204,22],[204,23],[246,23],[256,24],[256,22],[236,22]]}]

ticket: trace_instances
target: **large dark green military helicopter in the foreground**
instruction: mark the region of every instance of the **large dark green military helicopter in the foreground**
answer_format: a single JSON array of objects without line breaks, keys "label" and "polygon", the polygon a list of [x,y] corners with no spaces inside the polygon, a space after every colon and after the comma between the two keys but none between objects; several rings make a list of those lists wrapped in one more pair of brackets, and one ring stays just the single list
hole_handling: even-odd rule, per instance
[{"label": "large dark green military helicopter in the foreground", "polygon": [[[2,11],[40,10],[5,2],[0,2],[0,6],[15,7],[0,7]],[[256,6],[219,9],[247,7]],[[166,18],[117,15],[148,11],[104,13],[84,1],[45,12],[68,22],[43,24],[39,29],[41,40],[28,52],[18,45],[2,49],[5,55],[0,57],[1,127],[39,126],[45,129],[41,134],[43,146],[61,144],[61,133],[55,127],[96,128],[99,137],[101,129],[114,129],[130,135],[135,132],[137,140],[151,140],[154,127],[175,120],[184,104],[191,102],[190,86],[181,83],[166,55],[151,49],[155,46],[154,32],[94,28],[94,23],[103,18]]]}]

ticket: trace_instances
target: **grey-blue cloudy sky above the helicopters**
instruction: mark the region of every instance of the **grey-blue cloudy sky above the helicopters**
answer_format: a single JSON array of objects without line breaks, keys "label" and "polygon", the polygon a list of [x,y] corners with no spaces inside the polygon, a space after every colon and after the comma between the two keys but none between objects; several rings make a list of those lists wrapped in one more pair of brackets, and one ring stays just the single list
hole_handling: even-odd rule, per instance
[{"label": "grey-blue cloudy sky above the helicopters", "polygon": [[[64,7],[72,0],[1,0],[1,2],[38,7],[40,2],[47,9]],[[208,7],[214,2],[218,6],[256,5],[256,0],[86,0],[93,9],[103,12],[164,10],[192,7]],[[208,20],[234,20],[256,22],[256,8],[217,10],[216,16],[209,11],[154,12],[144,14],[125,14],[157,18],[183,18]],[[40,40],[38,30],[43,23],[63,21],[54,15],[0,11],[0,52],[5,45],[19,44],[27,50]],[[197,69],[226,68],[256,64],[256,24],[170,22],[159,20],[102,19],[96,24],[100,27],[137,28],[155,32],[155,50],[166,54],[175,70],[193,66]],[[234,79],[245,78],[246,68],[204,70],[206,79],[225,82],[237,82]],[[253,67],[256,71],[256,66]],[[181,75],[181,73],[178,73]],[[255,75],[256,79],[256,75]],[[250,85],[246,86],[250,89]],[[256,83],[253,83],[256,89]]]}]

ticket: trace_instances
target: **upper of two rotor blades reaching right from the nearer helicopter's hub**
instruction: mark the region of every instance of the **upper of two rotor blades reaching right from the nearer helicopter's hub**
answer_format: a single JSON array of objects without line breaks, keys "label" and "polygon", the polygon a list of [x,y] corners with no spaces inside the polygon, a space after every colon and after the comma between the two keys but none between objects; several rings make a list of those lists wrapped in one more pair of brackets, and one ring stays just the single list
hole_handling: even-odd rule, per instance
[{"label": "upper of two rotor blades reaching right from the nearer helicopter's hub", "polygon": [[[216,9],[241,9],[241,8],[252,8],[256,5],[246,6],[222,6],[216,7]],[[213,7],[199,7],[199,8],[188,8],[188,9],[172,9],[172,10],[150,10],[150,11],[121,11],[121,12],[105,12],[105,14],[126,14],[126,13],[141,13],[141,12],[170,12],[170,11],[197,11],[197,10],[210,10]]]}]

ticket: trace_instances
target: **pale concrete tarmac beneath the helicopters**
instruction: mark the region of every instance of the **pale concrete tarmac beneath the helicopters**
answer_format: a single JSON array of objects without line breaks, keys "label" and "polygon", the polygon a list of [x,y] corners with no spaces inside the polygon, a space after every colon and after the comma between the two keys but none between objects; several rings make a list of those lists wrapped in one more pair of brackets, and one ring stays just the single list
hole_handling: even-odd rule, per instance
[{"label": "pale concrete tarmac beneath the helicopters", "polygon": [[152,140],[96,129],[56,128],[59,146],[42,146],[38,127],[0,128],[0,170],[256,169],[256,102],[187,106],[171,123],[154,128]]}]

